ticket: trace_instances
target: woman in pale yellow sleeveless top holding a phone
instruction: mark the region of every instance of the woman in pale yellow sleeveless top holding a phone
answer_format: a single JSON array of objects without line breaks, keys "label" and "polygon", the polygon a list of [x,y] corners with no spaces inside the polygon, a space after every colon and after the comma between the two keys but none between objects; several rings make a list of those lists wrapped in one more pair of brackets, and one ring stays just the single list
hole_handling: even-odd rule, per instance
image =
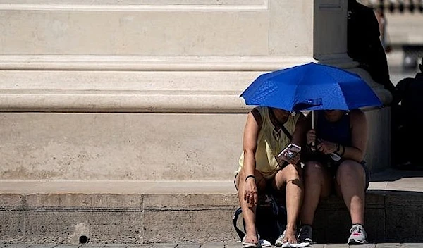
[{"label": "woman in pale yellow sleeveless top holding a phone", "polygon": [[286,194],[287,227],[286,232],[276,240],[276,245],[297,243],[296,222],[302,202],[300,154],[292,158],[278,157],[278,154],[290,143],[302,146],[305,142],[305,124],[302,113],[295,115],[282,109],[260,106],[248,113],[243,154],[235,175],[246,228],[244,248],[260,247],[255,210],[258,197],[267,186]]}]

